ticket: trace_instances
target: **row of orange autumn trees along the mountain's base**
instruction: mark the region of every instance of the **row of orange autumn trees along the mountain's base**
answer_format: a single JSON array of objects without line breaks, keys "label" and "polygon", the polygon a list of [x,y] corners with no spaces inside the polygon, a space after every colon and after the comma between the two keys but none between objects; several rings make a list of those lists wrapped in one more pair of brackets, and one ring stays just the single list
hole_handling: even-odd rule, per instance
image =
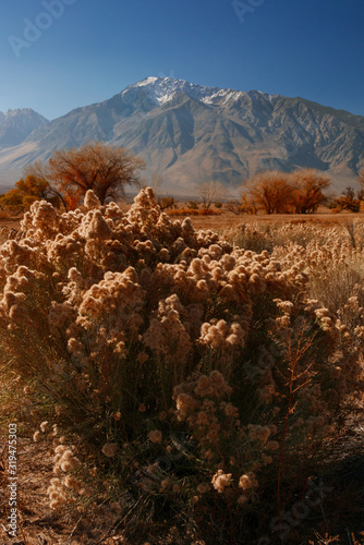
[{"label": "row of orange autumn trees along the mountain's base", "polygon": [[[139,175],[144,161],[123,147],[108,146],[101,142],[89,143],[78,148],[54,150],[48,162],[35,161],[24,169],[24,178],[15,187],[0,195],[0,208],[11,213],[25,211],[32,203],[46,199],[54,206],[74,209],[87,190],[93,190],[101,204],[108,199],[120,199],[125,195],[126,185],[142,185]],[[156,184],[161,183],[160,177]],[[359,211],[364,202],[364,169],[359,181],[362,190],[352,187],[330,203],[340,211]],[[316,169],[298,169],[287,173],[266,170],[253,175],[244,184],[240,199],[230,201],[227,208],[234,214],[313,214],[327,202],[325,190],[330,186],[330,178]],[[202,183],[198,194],[203,208],[220,201],[227,187],[220,182]],[[162,208],[173,206],[167,199],[159,199]],[[166,201],[166,202],[165,202]]]}]

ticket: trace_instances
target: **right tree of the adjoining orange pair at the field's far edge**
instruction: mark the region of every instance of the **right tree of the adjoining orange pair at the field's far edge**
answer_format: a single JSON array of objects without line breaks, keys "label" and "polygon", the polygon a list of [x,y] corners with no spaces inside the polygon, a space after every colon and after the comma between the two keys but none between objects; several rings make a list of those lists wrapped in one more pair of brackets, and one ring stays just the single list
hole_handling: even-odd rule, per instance
[{"label": "right tree of the adjoining orange pair at the field's far edge", "polygon": [[325,201],[323,191],[330,185],[330,178],[316,169],[300,169],[291,174],[289,183],[294,213],[311,214]]}]

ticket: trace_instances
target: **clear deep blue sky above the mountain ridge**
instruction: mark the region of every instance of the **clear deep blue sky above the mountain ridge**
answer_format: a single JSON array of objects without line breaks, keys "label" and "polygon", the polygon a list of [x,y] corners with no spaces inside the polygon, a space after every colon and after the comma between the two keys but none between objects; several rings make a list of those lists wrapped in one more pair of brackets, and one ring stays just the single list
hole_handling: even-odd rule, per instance
[{"label": "clear deep blue sky above the mountain ridge", "polygon": [[54,119],[171,75],[364,116],[363,0],[241,0],[236,10],[232,0],[1,0],[0,110]]}]

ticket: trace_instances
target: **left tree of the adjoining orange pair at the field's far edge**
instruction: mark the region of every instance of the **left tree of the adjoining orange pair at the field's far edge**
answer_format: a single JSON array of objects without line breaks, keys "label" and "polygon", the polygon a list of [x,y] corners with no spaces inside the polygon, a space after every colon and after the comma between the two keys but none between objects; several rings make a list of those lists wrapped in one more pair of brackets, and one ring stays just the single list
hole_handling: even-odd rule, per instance
[{"label": "left tree of the adjoining orange pair at the field's far edge", "polygon": [[248,196],[266,214],[284,214],[292,205],[292,185],[289,174],[265,170],[247,182]]}]

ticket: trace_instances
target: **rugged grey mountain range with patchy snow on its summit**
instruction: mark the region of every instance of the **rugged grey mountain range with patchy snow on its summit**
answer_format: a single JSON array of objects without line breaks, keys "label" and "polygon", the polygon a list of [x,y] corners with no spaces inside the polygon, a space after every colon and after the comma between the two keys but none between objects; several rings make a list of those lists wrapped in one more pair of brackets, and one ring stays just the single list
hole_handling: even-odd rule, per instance
[{"label": "rugged grey mountain range with patchy snow on its summit", "polygon": [[260,90],[146,77],[51,122],[33,114],[34,130],[24,122],[10,145],[1,131],[12,116],[0,113],[0,183],[16,181],[25,165],[53,149],[89,141],[129,148],[146,161],[146,179],[158,172],[163,191],[189,195],[206,180],[233,187],[259,170],[298,167],[326,170],[343,189],[364,167],[364,117]]}]

